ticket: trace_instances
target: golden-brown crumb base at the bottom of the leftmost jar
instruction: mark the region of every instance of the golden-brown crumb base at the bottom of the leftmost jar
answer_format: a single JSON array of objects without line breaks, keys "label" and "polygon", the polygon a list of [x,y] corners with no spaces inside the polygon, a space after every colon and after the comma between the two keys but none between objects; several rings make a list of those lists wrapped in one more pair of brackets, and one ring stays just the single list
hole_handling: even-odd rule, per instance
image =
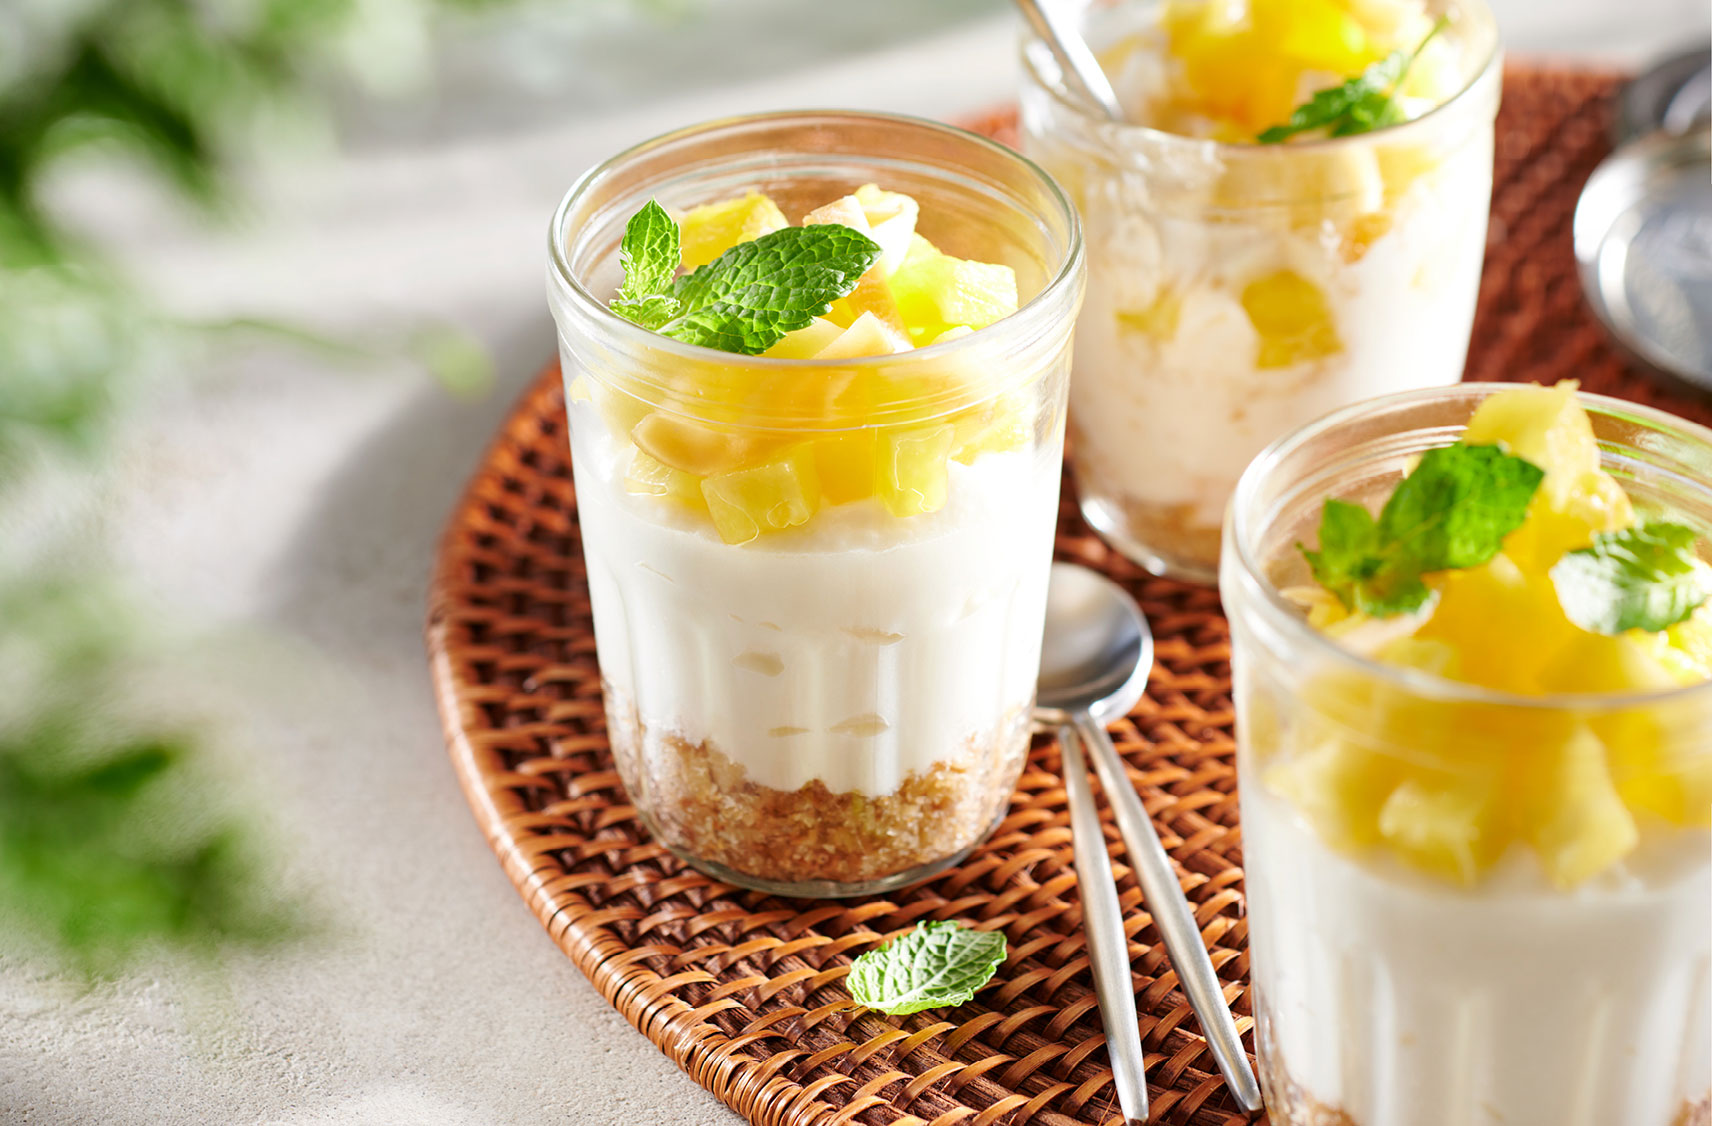
[{"label": "golden-brown crumb base at the bottom of the leftmost jar", "polygon": [[882,796],[758,785],[709,743],[649,731],[608,691],[613,758],[666,844],[776,885],[868,883],[972,847],[1010,801],[1029,750],[1027,708]]}]

